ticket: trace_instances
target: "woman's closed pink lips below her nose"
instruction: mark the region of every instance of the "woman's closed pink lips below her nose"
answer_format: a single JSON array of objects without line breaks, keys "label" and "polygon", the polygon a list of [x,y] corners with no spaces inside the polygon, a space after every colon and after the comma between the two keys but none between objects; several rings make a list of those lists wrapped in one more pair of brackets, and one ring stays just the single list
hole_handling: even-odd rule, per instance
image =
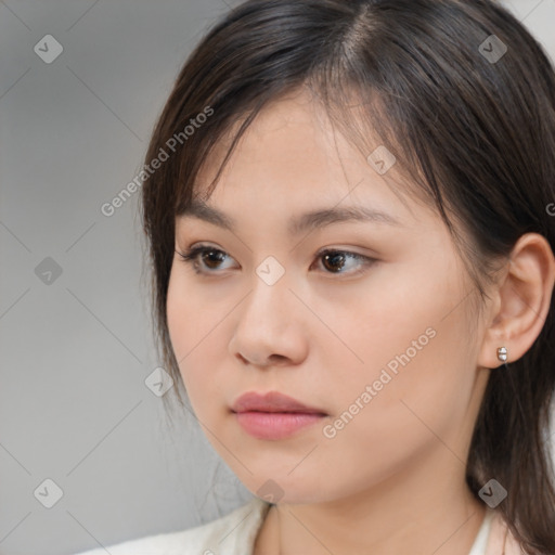
[{"label": "woman's closed pink lips below her nose", "polygon": [[326,414],[278,391],[242,395],[233,404],[238,424],[259,439],[283,439],[321,421]]}]

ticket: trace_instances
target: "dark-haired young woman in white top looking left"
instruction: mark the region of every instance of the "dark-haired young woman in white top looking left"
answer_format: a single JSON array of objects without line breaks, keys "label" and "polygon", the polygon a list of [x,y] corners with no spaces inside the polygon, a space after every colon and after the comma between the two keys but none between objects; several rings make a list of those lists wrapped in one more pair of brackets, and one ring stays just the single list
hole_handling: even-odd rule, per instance
[{"label": "dark-haired young woman in white top looking left", "polygon": [[146,164],[162,354],[255,498],[109,553],[555,553],[555,75],[515,17],[247,1]]}]

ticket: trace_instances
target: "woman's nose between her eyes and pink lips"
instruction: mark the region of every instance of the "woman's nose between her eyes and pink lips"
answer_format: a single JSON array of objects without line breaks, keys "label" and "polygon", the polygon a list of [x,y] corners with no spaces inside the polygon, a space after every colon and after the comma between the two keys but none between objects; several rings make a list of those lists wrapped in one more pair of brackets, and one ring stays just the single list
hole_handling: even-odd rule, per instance
[{"label": "woman's nose between her eyes and pink lips", "polygon": [[307,357],[306,314],[286,276],[269,285],[255,273],[251,292],[237,307],[229,350],[244,364],[296,365]]}]

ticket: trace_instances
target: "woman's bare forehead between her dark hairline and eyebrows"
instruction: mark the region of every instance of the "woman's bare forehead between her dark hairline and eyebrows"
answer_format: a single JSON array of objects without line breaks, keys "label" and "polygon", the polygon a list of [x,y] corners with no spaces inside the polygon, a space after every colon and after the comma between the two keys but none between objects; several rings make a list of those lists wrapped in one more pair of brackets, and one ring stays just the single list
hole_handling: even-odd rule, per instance
[{"label": "woman's bare forehead between her dark hairline and eyebrows", "polygon": [[[397,182],[395,167],[379,175],[366,157],[331,124],[325,111],[306,93],[296,93],[267,105],[246,129],[228,160],[214,193],[207,186],[216,176],[241,121],[217,141],[203,164],[195,196],[204,206],[181,206],[178,215],[208,215],[206,204],[227,210],[242,198],[245,210],[281,210],[294,214],[301,207],[345,208],[359,206],[374,212],[374,221],[413,219],[411,203]],[[372,145],[372,138],[369,138]],[[377,145],[376,145],[377,146]],[[321,210],[322,211],[322,210]],[[366,216],[369,216],[366,214]],[[211,220],[218,216],[211,212]],[[220,215],[221,216],[221,215]],[[337,216],[337,215],[335,215]],[[334,215],[320,215],[330,218]],[[317,218],[318,218],[317,217]],[[372,218],[372,216],[369,216]],[[224,218],[219,218],[220,223]],[[309,220],[292,220],[294,233]],[[229,222],[228,222],[229,223]],[[223,225],[225,227],[225,225]],[[232,225],[227,225],[231,229]]]}]

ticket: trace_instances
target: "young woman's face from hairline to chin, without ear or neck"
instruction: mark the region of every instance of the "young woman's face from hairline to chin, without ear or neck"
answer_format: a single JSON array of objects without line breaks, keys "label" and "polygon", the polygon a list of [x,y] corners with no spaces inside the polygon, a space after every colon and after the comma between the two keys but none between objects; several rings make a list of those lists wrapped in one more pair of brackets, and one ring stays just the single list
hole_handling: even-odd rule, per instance
[{"label": "young woman's face from hairline to chin, without ear or neck", "polygon": [[[232,231],[177,219],[179,253],[207,248],[175,255],[167,299],[191,404],[241,481],[274,501],[461,481],[488,372],[473,286],[439,216],[397,196],[313,106],[284,99],[250,125],[207,201]],[[360,209],[382,215],[299,224]],[[269,391],[321,415],[233,412]]]}]

